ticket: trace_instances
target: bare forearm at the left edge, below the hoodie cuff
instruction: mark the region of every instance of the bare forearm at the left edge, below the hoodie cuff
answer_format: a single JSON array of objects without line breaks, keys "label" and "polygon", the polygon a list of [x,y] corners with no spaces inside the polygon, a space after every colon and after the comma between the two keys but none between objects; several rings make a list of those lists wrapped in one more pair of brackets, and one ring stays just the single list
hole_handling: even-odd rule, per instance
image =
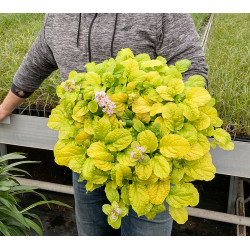
[{"label": "bare forearm at the left edge, below the hoodie cuff", "polygon": [[10,90],[4,101],[0,104],[0,120],[3,120],[6,116],[11,114],[11,112],[20,104],[25,101],[25,98],[16,96]]}]

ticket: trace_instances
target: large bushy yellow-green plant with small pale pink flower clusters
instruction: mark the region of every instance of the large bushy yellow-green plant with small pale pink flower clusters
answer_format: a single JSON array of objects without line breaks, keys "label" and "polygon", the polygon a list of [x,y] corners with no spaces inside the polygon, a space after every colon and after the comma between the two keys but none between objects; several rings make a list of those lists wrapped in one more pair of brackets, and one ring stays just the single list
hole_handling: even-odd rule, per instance
[{"label": "large bushy yellow-green plant with small pale pink flower clusters", "polygon": [[212,180],[216,172],[210,145],[234,147],[205,79],[183,81],[190,64],[168,66],[163,57],[134,56],[127,48],[115,59],[87,63],[87,73],[72,71],[57,87],[60,104],[48,122],[59,130],[55,161],[87,180],[88,191],[105,185],[111,204],[103,212],[113,228],[129,206],[153,219],[164,201],[173,219],[185,223],[185,207],[199,202],[191,182]]}]

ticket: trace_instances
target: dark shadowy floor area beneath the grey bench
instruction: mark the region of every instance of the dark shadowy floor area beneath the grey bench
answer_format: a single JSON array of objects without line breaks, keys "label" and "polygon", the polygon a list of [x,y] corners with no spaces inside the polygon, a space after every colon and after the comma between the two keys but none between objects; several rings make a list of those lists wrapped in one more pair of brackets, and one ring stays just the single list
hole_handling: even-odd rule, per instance
[{"label": "dark shadowy floor area beneath the grey bench", "polygon": [[[28,160],[41,161],[40,164],[29,164],[22,168],[27,170],[32,179],[41,181],[72,185],[71,170],[66,167],[58,166],[54,163],[53,152],[47,150],[38,150],[18,146],[7,146],[8,153],[23,152],[28,154]],[[194,185],[200,193],[200,202],[198,208],[213,210],[218,212],[227,212],[228,190],[230,177],[217,174],[210,182],[195,181]],[[250,185],[244,183],[245,198],[250,195]],[[43,232],[45,236],[75,236],[77,235],[74,197],[69,194],[55,193],[45,190],[39,190],[48,200],[58,200],[64,202],[72,208],[66,208],[58,205],[51,205],[51,209],[43,205],[33,208],[31,212],[37,214],[43,223]],[[41,200],[35,194],[25,194],[20,197],[21,206],[27,207],[32,203]],[[246,216],[250,217],[250,202],[245,205]],[[250,227],[246,228],[247,235],[250,236]],[[36,235],[32,233],[32,235]],[[236,225],[212,221],[202,218],[189,217],[184,225],[173,225],[173,236],[235,236]]]}]

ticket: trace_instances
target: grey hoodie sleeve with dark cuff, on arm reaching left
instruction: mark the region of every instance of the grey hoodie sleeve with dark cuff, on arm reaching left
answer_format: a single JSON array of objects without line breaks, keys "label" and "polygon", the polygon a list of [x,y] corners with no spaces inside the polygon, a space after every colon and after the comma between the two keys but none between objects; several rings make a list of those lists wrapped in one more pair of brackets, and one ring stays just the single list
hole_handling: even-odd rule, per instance
[{"label": "grey hoodie sleeve with dark cuff, on arm reaching left", "polygon": [[[14,75],[11,91],[19,97],[28,97],[39,88],[45,78],[58,69],[45,39],[46,18],[47,16],[37,38]],[[18,94],[20,90],[25,94],[20,96]]]}]

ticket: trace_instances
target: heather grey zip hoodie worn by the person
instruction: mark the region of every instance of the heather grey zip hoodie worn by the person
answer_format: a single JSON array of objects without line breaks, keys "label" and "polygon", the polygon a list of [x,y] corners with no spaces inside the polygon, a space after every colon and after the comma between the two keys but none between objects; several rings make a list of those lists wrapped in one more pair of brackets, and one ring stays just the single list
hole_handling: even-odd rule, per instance
[{"label": "heather grey zip hoodie worn by the person", "polygon": [[183,80],[199,74],[208,83],[208,65],[189,14],[46,14],[14,76],[12,92],[35,91],[56,69],[65,81],[70,71],[84,72],[87,62],[100,63],[122,48],[130,48],[134,55],[148,53],[151,59],[163,56],[168,65],[189,59],[192,65]]}]

